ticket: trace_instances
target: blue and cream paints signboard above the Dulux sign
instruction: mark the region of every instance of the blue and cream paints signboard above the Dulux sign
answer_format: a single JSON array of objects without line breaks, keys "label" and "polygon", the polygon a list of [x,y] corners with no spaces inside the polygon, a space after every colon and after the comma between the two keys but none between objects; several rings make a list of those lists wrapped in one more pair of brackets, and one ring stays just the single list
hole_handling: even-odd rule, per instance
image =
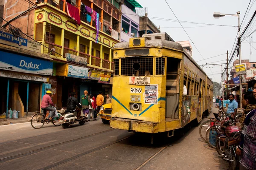
[{"label": "blue and cream paints signboard above the Dulux sign", "polygon": [[30,41],[22,37],[17,38],[17,37],[14,37],[12,34],[9,34],[3,31],[0,31],[0,43],[41,53],[40,43],[35,41]]}]

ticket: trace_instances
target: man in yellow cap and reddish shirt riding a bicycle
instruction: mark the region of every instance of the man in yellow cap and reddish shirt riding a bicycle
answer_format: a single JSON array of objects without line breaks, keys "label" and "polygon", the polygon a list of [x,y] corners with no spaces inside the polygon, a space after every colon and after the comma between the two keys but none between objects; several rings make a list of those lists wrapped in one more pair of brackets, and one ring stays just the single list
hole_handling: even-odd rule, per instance
[{"label": "man in yellow cap and reddish shirt riding a bicycle", "polygon": [[52,120],[52,117],[55,115],[56,109],[54,108],[54,104],[52,102],[52,92],[47,91],[46,94],[43,96],[42,102],[41,102],[41,109],[50,111],[49,119]]}]

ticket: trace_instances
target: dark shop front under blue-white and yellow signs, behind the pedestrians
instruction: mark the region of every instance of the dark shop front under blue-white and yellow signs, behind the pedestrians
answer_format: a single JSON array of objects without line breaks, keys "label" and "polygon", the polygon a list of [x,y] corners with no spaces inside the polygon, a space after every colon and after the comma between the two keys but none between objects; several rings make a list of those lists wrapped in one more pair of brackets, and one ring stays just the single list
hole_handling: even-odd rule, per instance
[{"label": "dark shop front under blue-white and yellow signs, behind the pedestrians", "polygon": [[76,92],[76,97],[80,102],[85,90],[95,97],[99,91],[102,91],[104,96],[111,95],[110,72],[65,64],[56,67],[56,77],[58,107],[66,107],[67,98],[71,92]]}]

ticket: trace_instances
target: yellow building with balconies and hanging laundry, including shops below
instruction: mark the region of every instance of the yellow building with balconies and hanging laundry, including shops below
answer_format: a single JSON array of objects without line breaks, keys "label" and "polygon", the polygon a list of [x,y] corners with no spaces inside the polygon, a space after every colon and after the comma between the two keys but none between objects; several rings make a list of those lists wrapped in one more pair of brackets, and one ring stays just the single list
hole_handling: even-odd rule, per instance
[{"label": "yellow building with balconies and hanging laundry, including shops below", "polygon": [[[52,76],[41,87],[42,94],[48,89],[53,91],[53,102],[58,107],[66,106],[72,91],[78,94],[78,99],[84,90],[95,97],[99,91],[111,94],[113,46],[120,42],[120,3],[116,0],[30,3],[7,0],[3,5],[4,18],[27,34],[28,40],[40,42],[41,53],[52,59]],[[92,11],[84,11],[85,7]],[[94,19],[97,14],[99,17]],[[98,33],[96,25],[99,25]]]}]

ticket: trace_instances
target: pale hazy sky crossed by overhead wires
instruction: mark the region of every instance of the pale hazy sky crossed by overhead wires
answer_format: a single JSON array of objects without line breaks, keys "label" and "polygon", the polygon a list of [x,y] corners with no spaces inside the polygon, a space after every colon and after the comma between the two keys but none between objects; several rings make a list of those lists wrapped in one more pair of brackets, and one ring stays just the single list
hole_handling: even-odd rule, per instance
[{"label": "pale hazy sky crossed by overhead wires", "polygon": [[[247,11],[248,15],[246,14],[246,19],[244,18],[241,31],[243,31],[244,27],[256,10],[256,3],[254,3],[255,1],[256,0],[251,0],[250,6],[251,4],[253,4],[253,6],[251,8],[249,7],[249,12]],[[141,6],[148,8],[148,17],[157,27],[160,26],[161,32],[168,33],[175,41],[189,40],[190,37],[194,42],[195,46],[198,48],[199,52],[209,64],[226,63],[225,59],[227,59],[227,54],[224,53],[227,53],[227,50],[229,51],[229,53],[231,53],[231,49],[233,47],[233,43],[235,41],[238,31],[237,27],[206,26],[181,23],[182,26],[185,28],[186,32],[188,33],[188,37],[178,22],[151,18],[158,17],[176,20],[174,14],[167,6],[165,0],[137,0],[137,2],[140,3]],[[180,21],[238,26],[238,18],[236,16],[225,16],[219,19],[215,19],[213,17],[213,13],[221,12],[223,14],[236,14],[237,11],[240,11],[240,20],[242,21],[250,0],[167,0],[167,2],[169,3],[169,6],[172,8],[175,15]],[[253,26],[256,26],[255,22]],[[256,27],[253,27],[252,31],[255,29]],[[250,31],[247,34],[250,34]],[[252,34],[252,38],[247,38],[247,41],[256,41],[255,39],[256,37],[253,38]],[[189,41],[192,45],[191,40]],[[251,43],[251,45],[253,46],[252,48],[247,41],[244,40],[244,42],[241,43],[241,57],[242,59],[250,59],[250,61],[256,61],[256,50],[253,49],[256,48],[256,43]],[[195,46],[192,45],[193,58],[195,59],[195,61],[202,60],[203,58],[198,53]],[[212,59],[207,59],[209,57],[220,54],[224,55],[214,57]],[[239,59],[239,57],[235,57],[235,59]],[[204,60],[198,62],[199,65],[203,65],[205,63],[206,62]],[[208,76],[212,78],[213,81],[221,82],[221,66],[209,65],[206,67],[204,67],[204,71],[206,71]],[[223,65],[223,68],[224,67],[225,65]]]}]

